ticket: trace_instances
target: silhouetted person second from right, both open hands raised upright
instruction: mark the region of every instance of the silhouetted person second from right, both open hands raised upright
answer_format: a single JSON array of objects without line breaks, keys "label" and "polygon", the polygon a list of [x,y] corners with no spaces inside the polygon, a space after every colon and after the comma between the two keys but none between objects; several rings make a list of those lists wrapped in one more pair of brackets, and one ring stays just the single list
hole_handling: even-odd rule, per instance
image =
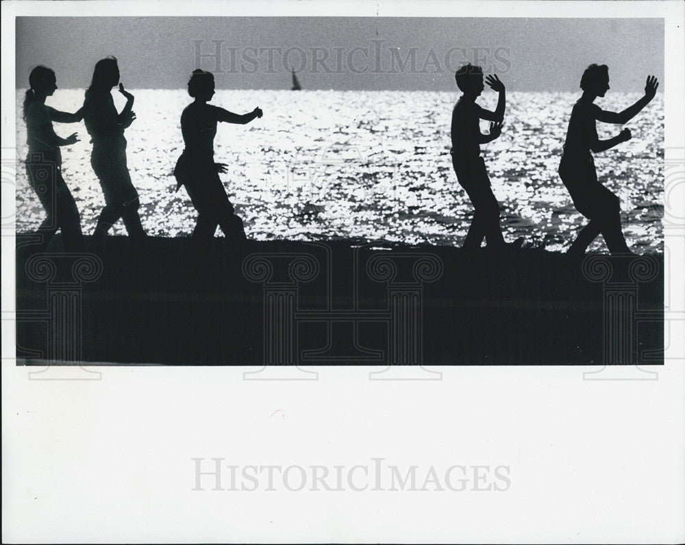
[{"label": "silhouetted person second from right, both open hands raised upright", "polygon": [[[523,238],[511,244],[504,242],[499,225],[499,204],[490,186],[485,162],[480,155],[480,144],[492,142],[501,134],[506,107],[504,84],[497,75],[489,75],[485,79],[488,86],[499,93],[497,107],[494,112],[490,112],[475,102],[485,88],[483,70],[480,66],[465,64],[456,71],[454,78],[463,94],[452,110],[452,166],[460,186],[469,195],[475,208],[471,227],[462,248],[473,253],[480,248],[483,238],[486,239],[488,248],[495,251],[508,246],[519,248]],[[491,122],[490,134],[481,134],[481,119]]]}]

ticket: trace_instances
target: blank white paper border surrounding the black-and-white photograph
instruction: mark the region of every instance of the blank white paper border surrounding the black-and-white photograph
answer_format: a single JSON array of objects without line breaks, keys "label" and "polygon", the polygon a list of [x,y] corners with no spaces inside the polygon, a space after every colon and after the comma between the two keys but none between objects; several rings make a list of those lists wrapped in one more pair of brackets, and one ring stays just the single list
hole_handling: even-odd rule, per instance
[{"label": "blank white paper border surrounding the black-and-white photograph", "polygon": [[[103,14],[664,18],[667,160],[685,149],[677,0],[8,1],[3,160],[16,134],[14,18]],[[13,191],[3,184],[3,218]],[[665,241],[675,313],[685,311],[682,227]],[[373,381],[368,368],[340,366],[317,368],[314,381],[243,380],[253,367],[106,367],[97,381],[38,381],[14,362],[14,237],[4,233],[2,294],[3,542],[685,541],[685,322],[669,325],[664,365],[649,369],[658,380],[621,380],[634,368],[593,381],[589,366],[443,366],[441,381]],[[193,459],[210,471],[212,458],[227,478],[230,466],[362,469],[338,492],[192,490]],[[451,466],[508,467],[510,484],[358,492],[377,459],[403,474],[418,466],[422,483],[429,468],[442,480]]]}]

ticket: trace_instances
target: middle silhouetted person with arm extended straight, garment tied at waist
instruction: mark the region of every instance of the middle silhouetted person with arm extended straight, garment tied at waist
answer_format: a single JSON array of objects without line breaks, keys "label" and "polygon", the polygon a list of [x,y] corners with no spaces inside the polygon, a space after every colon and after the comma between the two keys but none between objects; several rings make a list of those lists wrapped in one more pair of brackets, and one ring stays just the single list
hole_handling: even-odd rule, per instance
[{"label": "middle silhouetted person with arm extended straight, garment tied at waist", "polygon": [[174,169],[176,190],[186,187],[190,201],[198,212],[197,225],[192,231],[193,246],[198,251],[207,249],[219,225],[226,236],[229,249],[240,253],[247,237],[242,219],[234,213],[219,173],[225,165],[214,162],[214,136],[216,123],[245,125],[262,117],[256,107],[248,114],[234,114],[221,107],[208,104],[214,96],[214,75],[195,70],[188,81],[188,94],[195,101],[186,106],[181,115],[181,131],[185,149]]}]

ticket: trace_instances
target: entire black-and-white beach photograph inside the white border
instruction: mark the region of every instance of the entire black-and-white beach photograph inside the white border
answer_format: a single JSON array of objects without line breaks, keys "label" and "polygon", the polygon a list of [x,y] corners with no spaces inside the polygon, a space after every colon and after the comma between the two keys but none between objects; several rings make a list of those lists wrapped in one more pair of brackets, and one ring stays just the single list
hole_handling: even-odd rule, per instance
[{"label": "entire black-and-white beach photograph inside the white border", "polygon": [[661,364],[668,84],[657,18],[18,17],[17,362]]}]

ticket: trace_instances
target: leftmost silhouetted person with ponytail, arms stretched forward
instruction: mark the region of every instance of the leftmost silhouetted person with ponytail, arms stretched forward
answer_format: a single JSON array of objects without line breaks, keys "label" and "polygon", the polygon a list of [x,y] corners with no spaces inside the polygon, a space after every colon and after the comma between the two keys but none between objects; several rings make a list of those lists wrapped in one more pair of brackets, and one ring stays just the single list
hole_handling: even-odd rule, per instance
[{"label": "leftmost silhouetted person with ponytail, arms stretched forward", "polygon": [[74,198],[62,177],[60,146],[78,142],[76,133],[67,138],[55,134],[52,122],[78,123],[83,111],[75,114],[60,112],[45,105],[45,99],[57,89],[55,73],[46,66],[36,66],[29,75],[29,90],[24,97],[23,117],[26,121],[26,173],[31,187],[38,195],[47,218],[38,227],[40,249],[45,251],[58,229],[62,229],[62,243],[67,252],[84,251],[81,218]]}]

